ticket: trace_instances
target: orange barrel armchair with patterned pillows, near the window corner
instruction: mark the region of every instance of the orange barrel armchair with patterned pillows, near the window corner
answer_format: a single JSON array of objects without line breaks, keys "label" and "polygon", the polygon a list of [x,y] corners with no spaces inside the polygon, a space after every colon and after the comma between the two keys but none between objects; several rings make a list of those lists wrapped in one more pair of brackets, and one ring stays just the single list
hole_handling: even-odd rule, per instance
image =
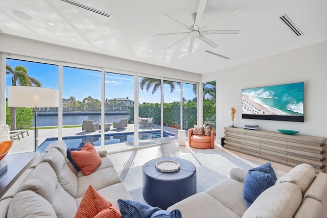
[{"label": "orange barrel armchair with patterned pillows, near the window corner", "polygon": [[215,148],[215,130],[211,131],[210,136],[193,135],[193,130],[189,129],[189,146],[197,149]]}]

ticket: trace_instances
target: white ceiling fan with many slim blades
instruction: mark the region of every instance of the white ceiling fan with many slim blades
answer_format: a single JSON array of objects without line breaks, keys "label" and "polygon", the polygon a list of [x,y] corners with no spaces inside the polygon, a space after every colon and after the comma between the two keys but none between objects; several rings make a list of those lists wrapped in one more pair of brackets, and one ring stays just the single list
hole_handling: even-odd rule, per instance
[{"label": "white ceiling fan with many slim blades", "polygon": [[203,15],[205,4],[206,4],[206,0],[200,0],[197,13],[192,14],[192,16],[194,18],[194,24],[191,27],[188,27],[188,26],[184,25],[183,23],[181,23],[180,21],[174,19],[173,17],[171,17],[171,16],[169,16],[167,14],[164,14],[165,16],[167,16],[167,17],[175,20],[176,22],[178,22],[183,27],[187,28],[188,29],[188,32],[163,33],[163,34],[154,34],[152,36],[177,35],[177,34],[186,35],[185,37],[181,38],[177,42],[174,42],[173,44],[169,45],[167,47],[167,49],[169,49],[170,47],[174,46],[178,42],[180,42],[180,41],[188,38],[189,36],[191,36],[191,42],[190,42],[190,46],[189,46],[189,52],[192,52],[195,37],[201,39],[202,41],[204,41],[205,43],[207,43],[207,44],[209,44],[209,45],[211,45],[213,47],[217,47],[218,45],[215,42],[209,40],[208,38],[206,38],[203,35],[206,35],[206,34],[238,34],[240,32],[239,30],[206,30],[206,29],[208,27],[212,26],[214,23],[216,23],[218,21],[221,21],[223,19],[226,19],[226,18],[231,17],[233,15],[236,15],[238,13],[241,13],[242,12],[242,9],[241,8],[238,8],[236,10],[233,10],[233,11],[229,12],[228,14],[225,14],[225,15],[223,15],[223,16],[221,16],[221,17],[219,17],[219,18],[217,18],[217,19],[215,19],[215,20],[207,23],[206,25],[200,27],[200,21],[201,21],[202,15]]}]

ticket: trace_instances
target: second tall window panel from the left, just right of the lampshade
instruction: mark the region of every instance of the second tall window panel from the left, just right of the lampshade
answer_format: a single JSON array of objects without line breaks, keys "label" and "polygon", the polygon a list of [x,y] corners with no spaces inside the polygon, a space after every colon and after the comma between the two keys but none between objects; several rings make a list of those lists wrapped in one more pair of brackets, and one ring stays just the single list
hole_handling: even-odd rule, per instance
[{"label": "second tall window panel from the left, just right of the lampshade", "polygon": [[[101,71],[63,66],[62,78],[62,135],[85,136],[71,139],[70,147],[78,147],[81,141],[100,146],[100,129],[95,124],[101,123]],[[91,124],[83,126],[83,120]],[[89,133],[98,135],[86,137]]]}]

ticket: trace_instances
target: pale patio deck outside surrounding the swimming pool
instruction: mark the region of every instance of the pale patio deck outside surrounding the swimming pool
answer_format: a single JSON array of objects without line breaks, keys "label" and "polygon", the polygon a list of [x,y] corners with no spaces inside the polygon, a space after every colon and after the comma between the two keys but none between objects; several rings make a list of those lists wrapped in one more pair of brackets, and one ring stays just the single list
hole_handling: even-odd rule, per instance
[{"label": "pale patio deck outside surrounding the swimming pool", "polygon": [[[146,131],[160,131],[160,126],[159,125],[154,125],[153,127],[139,127],[138,131],[141,132],[146,132]],[[114,134],[114,133],[131,133],[134,132],[134,125],[133,124],[128,124],[127,128],[124,129],[113,129],[112,126],[110,127],[109,131],[105,131],[105,134]],[[164,126],[164,132],[169,132],[176,134],[175,137],[166,137],[164,138],[164,143],[166,142],[172,142],[177,140],[177,133],[178,129],[171,128],[171,127],[165,127]],[[66,136],[91,136],[91,135],[99,135],[101,134],[101,130],[99,131],[94,131],[94,132],[88,132],[88,131],[83,131],[82,127],[73,127],[73,128],[64,128],[62,131],[63,137]],[[38,130],[38,143],[41,144],[43,141],[46,140],[46,138],[51,138],[51,137],[58,137],[58,129],[41,129]],[[33,142],[34,142],[34,131],[30,130],[29,131],[29,136],[25,136],[24,138],[20,138],[20,140],[14,138],[14,143],[13,146],[10,150],[10,154],[15,154],[15,153],[22,153],[22,152],[31,152],[33,151]],[[187,144],[187,143],[186,143]],[[105,149],[109,151],[107,148],[108,146],[105,146]],[[110,144],[111,149],[110,150],[126,150],[126,149],[131,149],[134,147],[133,142],[122,142],[122,143],[116,143],[116,144]],[[113,148],[113,147],[116,147]]]}]

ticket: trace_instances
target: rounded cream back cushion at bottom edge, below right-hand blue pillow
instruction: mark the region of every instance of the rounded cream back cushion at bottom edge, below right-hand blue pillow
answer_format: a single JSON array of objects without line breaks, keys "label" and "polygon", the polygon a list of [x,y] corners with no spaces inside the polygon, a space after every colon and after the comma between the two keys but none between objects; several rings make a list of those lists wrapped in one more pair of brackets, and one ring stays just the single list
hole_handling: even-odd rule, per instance
[{"label": "rounded cream back cushion at bottom edge, below right-hand blue pillow", "polygon": [[242,218],[284,217],[291,218],[301,205],[302,195],[299,187],[292,183],[276,184],[251,204]]}]

